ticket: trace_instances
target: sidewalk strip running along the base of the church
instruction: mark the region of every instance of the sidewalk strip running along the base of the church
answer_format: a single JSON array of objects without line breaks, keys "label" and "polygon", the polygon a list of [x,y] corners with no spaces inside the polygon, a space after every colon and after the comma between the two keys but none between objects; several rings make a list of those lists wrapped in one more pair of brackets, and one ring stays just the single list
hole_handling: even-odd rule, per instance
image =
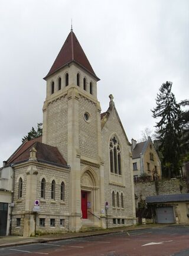
[{"label": "sidewalk strip running along the base of the church", "polygon": [[41,235],[36,237],[32,236],[27,238],[24,238],[22,236],[0,236],[0,248],[24,244],[37,244],[49,241],[66,240],[71,238],[82,238],[86,236],[105,235],[107,233],[128,232],[138,229],[158,228],[159,226],[162,227],[165,225],[147,224],[137,226],[126,226],[120,228],[109,228],[100,231],[54,233],[50,235]]}]

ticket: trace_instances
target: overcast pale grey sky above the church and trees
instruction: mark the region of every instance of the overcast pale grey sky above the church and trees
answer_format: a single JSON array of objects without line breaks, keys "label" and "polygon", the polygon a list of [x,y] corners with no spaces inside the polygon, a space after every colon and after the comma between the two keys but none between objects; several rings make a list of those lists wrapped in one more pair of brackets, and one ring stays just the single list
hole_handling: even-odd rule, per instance
[{"label": "overcast pale grey sky above the church and trees", "polygon": [[101,79],[102,112],[113,94],[128,139],[154,129],[163,82],[189,98],[189,1],[0,0],[0,167],[43,120],[45,81],[71,28]]}]

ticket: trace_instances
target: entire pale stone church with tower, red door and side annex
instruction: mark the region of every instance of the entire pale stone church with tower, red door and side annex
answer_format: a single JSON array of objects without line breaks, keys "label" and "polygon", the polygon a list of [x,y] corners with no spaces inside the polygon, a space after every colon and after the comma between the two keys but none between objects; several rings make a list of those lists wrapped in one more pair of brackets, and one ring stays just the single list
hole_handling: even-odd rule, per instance
[{"label": "entire pale stone church with tower, red door and side annex", "polygon": [[109,227],[135,224],[131,143],[112,95],[101,113],[99,78],[72,29],[44,79],[43,137],[22,143],[2,168],[14,177],[6,229],[106,228],[105,204]]}]

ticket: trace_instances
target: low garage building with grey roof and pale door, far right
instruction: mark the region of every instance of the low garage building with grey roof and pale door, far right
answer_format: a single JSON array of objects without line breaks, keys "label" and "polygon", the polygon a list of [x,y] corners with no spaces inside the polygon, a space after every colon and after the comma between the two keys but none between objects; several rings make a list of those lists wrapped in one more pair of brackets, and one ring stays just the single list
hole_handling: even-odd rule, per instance
[{"label": "low garage building with grey roof and pale door, far right", "polygon": [[157,223],[189,224],[189,194],[171,194],[146,197]]}]

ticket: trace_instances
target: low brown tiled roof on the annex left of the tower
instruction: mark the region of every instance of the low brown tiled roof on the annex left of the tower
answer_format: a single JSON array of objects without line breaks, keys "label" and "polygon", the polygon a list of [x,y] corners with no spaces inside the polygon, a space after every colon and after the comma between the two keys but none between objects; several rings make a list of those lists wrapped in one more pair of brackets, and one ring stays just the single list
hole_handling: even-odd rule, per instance
[{"label": "low brown tiled roof on the annex left of the tower", "polygon": [[[39,138],[37,139],[40,140]],[[35,148],[37,161],[67,166],[67,162],[56,147],[41,143],[37,139],[25,142],[15,155],[9,159],[8,164],[27,161],[30,157],[30,149]]]}]

